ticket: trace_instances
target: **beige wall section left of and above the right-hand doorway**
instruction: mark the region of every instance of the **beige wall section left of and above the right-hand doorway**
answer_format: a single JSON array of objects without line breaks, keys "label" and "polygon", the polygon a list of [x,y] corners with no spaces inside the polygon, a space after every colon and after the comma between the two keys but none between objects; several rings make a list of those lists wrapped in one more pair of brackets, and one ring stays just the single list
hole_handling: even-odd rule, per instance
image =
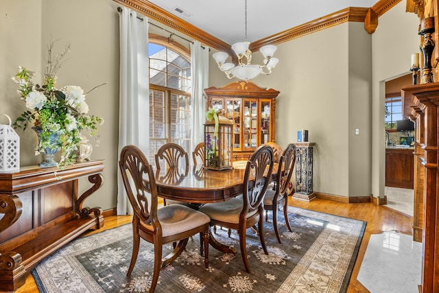
[{"label": "beige wall section left of and above the right-hand doorway", "polygon": [[384,196],[385,135],[384,102],[385,82],[410,73],[410,56],[419,51],[419,19],[405,12],[401,1],[379,18],[372,34],[372,194]]}]

